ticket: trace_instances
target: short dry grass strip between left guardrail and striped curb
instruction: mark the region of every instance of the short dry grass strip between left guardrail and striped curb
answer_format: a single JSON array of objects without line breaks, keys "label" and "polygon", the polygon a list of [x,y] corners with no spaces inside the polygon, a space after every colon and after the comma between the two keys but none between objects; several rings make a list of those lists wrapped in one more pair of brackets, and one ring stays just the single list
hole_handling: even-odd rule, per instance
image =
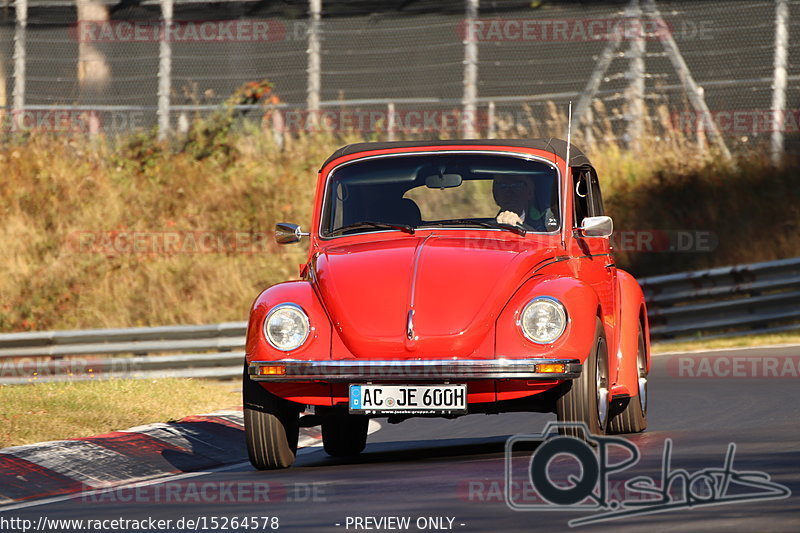
[{"label": "short dry grass strip between left guardrail and striped curb", "polygon": [[111,380],[0,386],[0,448],[88,437],[241,405],[238,382]]}]

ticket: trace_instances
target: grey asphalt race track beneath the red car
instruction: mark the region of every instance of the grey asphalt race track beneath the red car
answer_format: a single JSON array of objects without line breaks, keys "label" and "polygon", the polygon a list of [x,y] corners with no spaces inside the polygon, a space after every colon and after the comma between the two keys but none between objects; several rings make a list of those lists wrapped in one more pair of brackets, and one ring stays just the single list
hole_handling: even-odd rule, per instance
[{"label": "grey asphalt race track beneath the red car", "polygon": [[[643,434],[628,437],[640,450],[640,460],[624,472],[612,474],[610,484],[610,499],[622,498],[627,507],[636,497],[641,501],[642,494],[625,492],[619,480],[650,476],[660,484],[665,439],[672,441],[671,471],[682,468],[689,475],[704,469],[721,469],[729,443],[735,443],[731,471],[764,472],[772,482],[787,487],[791,496],[727,504],[718,501],[715,505],[677,508],[578,529],[800,531],[799,361],[800,347],[719,351],[689,359],[685,355],[655,357],[650,380],[650,427]],[[793,370],[788,365],[794,365]],[[758,377],[743,376],[754,370]],[[692,374],[700,377],[691,377]],[[600,513],[552,508],[545,511],[535,494],[520,488],[526,484],[525,472],[535,445],[514,452],[510,477],[513,483],[519,480],[512,485],[517,487],[512,490],[515,501],[538,505],[538,510],[513,511],[503,497],[506,439],[519,433],[537,433],[552,419],[550,415],[509,414],[383,423],[382,429],[370,436],[365,453],[356,460],[334,460],[321,448],[309,448],[301,452],[296,466],[289,470],[257,472],[249,464],[236,465],[226,471],[170,478],[139,487],[138,492],[119,489],[3,512],[0,526],[6,527],[0,530],[20,530],[11,527],[11,518],[37,523],[42,517],[171,519],[170,530],[174,531],[194,530],[195,525],[197,530],[204,530],[205,526],[206,531],[212,531],[214,518],[216,524],[225,525],[226,519],[244,517],[277,517],[279,530],[311,532],[567,528],[571,520],[597,517]],[[624,457],[612,455],[615,460]],[[550,471],[556,477],[580,473],[574,462],[563,457],[551,464]],[[694,485],[694,493],[698,498],[708,497],[701,485],[703,482]],[[674,486],[673,502],[682,500],[679,486],[680,483]],[[726,489],[718,491],[718,497],[730,498],[745,492],[763,494],[764,490],[730,482]],[[181,518],[198,517],[204,522],[190,524],[192,527],[185,522],[183,527],[176,526]],[[408,528],[402,523],[377,522],[388,517],[408,517]],[[428,520],[429,517],[441,517],[441,523]],[[262,528],[265,519],[259,518],[258,530],[270,530],[275,524],[270,519]],[[46,531],[72,530],[49,525]],[[119,525],[107,522],[104,530],[125,530]],[[394,529],[380,527],[398,525]]]}]

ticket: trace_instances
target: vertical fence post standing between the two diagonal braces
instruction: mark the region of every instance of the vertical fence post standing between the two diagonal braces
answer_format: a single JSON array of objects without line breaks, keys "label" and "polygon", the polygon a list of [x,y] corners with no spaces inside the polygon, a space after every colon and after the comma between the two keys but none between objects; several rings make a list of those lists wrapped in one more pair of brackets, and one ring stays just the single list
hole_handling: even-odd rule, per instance
[{"label": "vertical fence post standing between the two diagonal braces", "polygon": [[641,139],[644,133],[644,53],[645,41],[642,28],[642,9],[639,1],[634,0],[631,10],[627,13],[628,21],[635,20],[635,24],[628,30],[633,35],[628,35],[631,39],[628,47],[628,91],[627,91],[627,145],[628,148],[639,150]]}]

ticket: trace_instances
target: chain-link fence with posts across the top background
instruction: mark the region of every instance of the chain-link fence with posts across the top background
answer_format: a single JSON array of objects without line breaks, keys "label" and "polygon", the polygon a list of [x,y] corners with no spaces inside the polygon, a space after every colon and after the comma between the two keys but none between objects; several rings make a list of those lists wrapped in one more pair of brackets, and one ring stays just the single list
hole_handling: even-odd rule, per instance
[{"label": "chain-link fence with posts across the top background", "polygon": [[[254,80],[278,133],[539,136],[797,150],[800,0],[15,0],[8,129],[180,131]],[[160,118],[160,120],[159,120]],[[590,140],[591,140],[590,139]],[[585,140],[585,139],[584,139]]]}]

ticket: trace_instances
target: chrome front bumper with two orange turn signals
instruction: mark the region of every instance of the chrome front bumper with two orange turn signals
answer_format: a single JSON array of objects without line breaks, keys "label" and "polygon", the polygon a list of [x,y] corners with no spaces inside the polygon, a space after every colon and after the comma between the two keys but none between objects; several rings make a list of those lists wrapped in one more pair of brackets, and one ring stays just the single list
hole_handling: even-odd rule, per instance
[{"label": "chrome front bumper with two orange turn signals", "polygon": [[555,381],[575,379],[582,365],[578,359],[484,359],[484,360],[337,360],[251,361],[248,374],[254,381],[459,381],[526,379]]}]

